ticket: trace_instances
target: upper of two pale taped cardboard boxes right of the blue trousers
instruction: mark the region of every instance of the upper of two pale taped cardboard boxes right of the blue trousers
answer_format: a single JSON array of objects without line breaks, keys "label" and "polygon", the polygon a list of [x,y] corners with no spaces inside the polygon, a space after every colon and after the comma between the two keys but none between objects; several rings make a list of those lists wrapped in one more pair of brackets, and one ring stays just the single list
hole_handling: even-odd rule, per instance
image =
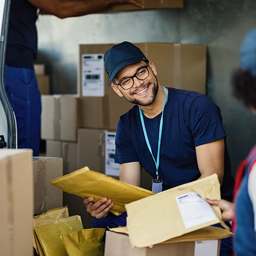
[{"label": "upper of two pale taped cardboard boxes right of the blue trousers", "polygon": [[42,95],[41,138],[76,141],[79,108],[76,95]]}]

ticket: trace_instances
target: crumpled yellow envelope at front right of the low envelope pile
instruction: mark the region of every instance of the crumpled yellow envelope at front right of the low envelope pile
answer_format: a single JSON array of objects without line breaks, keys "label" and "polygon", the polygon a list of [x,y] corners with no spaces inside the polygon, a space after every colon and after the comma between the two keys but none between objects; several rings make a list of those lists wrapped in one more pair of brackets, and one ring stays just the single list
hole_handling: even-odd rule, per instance
[{"label": "crumpled yellow envelope at front right of the low envelope pile", "polygon": [[104,228],[81,229],[60,239],[69,256],[103,256],[101,239],[104,232]]}]

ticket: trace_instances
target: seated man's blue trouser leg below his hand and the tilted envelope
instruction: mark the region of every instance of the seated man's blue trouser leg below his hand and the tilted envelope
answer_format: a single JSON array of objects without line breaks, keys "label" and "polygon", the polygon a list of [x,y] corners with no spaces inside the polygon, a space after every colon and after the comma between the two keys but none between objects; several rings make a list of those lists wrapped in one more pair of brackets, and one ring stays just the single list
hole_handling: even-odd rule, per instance
[{"label": "seated man's blue trouser leg below his hand and the tilted envelope", "polygon": [[[101,219],[94,218],[93,220],[93,227],[95,228],[105,228],[109,230],[109,228],[118,227],[118,226],[126,226],[126,211],[123,212],[121,215],[116,216],[110,212],[108,216]],[[102,241],[105,242],[105,233],[102,238]]]}]

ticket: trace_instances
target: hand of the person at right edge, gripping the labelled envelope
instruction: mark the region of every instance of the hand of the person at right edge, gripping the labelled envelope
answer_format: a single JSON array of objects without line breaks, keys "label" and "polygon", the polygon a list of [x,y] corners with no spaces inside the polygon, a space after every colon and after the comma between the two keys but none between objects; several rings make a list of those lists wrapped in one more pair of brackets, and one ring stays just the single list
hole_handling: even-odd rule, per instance
[{"label": "hand of the person at right edge, gripping the labelled envelope", "polygon": [[234,219],[234,203],[227,200],[209,200],[205,199],[209,204],[219,206],[222,211],[222,220],[231,221]]}]

